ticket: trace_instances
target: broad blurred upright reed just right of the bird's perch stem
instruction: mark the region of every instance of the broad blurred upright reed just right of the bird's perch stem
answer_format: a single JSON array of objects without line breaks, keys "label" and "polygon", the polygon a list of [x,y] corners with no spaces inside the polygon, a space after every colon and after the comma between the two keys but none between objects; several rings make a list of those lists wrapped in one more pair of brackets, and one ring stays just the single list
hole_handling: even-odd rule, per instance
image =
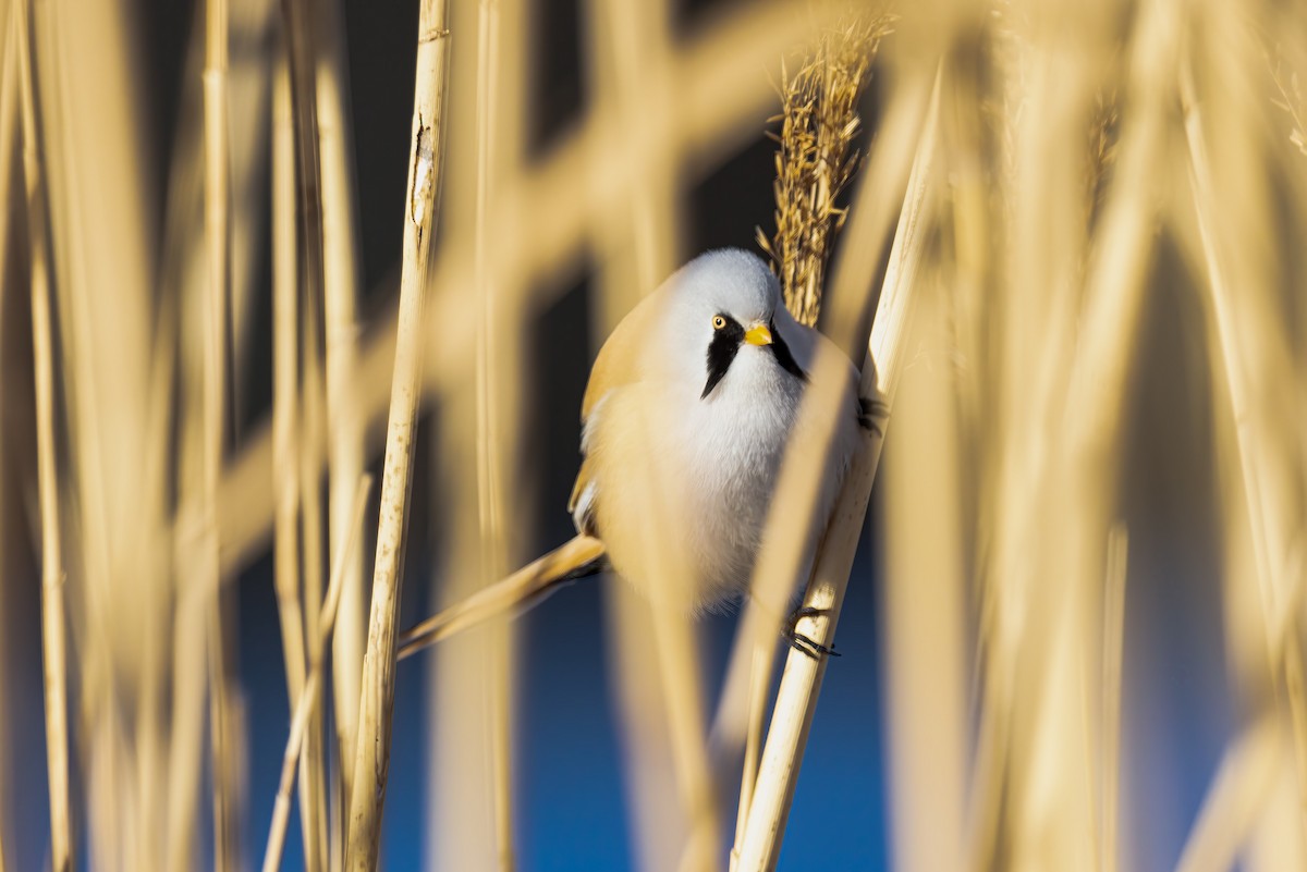
[{"label": "broad blurred upright reed just right of the bird's perch stem", "polygon": [[[921,281],[907,342],[920,349],[923,364],[951,342],[946,296],[953,282],[945,275],[931,270]],[[955,388],[949,367],[904,368],[894,449],[878,474],[886,510],[876,627],[885,658],[884,757],[894,798],[889,842],[893,867],[904,872],[967,868],[966,516],[958,500],[965,461]]]}]

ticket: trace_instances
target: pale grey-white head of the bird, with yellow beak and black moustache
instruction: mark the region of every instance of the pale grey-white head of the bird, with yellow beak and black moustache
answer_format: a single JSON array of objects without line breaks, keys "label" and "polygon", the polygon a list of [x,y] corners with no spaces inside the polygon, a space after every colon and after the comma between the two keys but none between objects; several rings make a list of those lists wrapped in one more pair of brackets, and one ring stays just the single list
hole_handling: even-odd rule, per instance
[{"label": "pale grey-white head of the bird, with yellow beak and black moustache", "polygon": [[806,352],[806,335],[783,305],[776,277],[755,255],[738,248],[701,255],[668,279],[667,292],[664,347],[677,369],[699,379],[701,399],[712,399],[728,376],[754,388],[806,380],[795,356],[796,339]]}]

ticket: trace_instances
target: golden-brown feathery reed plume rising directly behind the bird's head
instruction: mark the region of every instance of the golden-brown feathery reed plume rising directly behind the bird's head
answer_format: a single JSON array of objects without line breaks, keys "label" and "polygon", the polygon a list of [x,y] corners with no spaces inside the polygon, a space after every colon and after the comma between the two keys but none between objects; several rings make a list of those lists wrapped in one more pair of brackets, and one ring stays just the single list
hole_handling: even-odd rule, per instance
[{"label": "golden-brown feathery reed plume rising directly behind the bird's head", "polygon": [[823,34],[814,54],[791,77],[780,70],[780,133],[769,132],[776,151],[776,232],[759,227],[758,245],[780,277],[786,308],[813,326],[821,312],[826,261],[847,210],[836,205],[857,171],[853,148],[861,132],[857,103],[870,81],[887,14],[855,18]]}]

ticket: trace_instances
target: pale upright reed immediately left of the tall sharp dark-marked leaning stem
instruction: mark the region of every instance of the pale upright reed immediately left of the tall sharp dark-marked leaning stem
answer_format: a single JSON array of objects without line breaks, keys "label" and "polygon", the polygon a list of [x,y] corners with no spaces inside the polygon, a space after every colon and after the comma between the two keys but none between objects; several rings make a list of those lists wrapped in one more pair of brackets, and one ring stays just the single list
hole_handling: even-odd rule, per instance
[{"label": "pale upright reed immediately left of the tall sharp dark-marked leaning stem", "polygon": [[[319,9],[318,136],[323,198],[323,295],[327,337],[327,420],[329,448],[329,531],[335,553],[350,535],[349,495],[363,471],[363,422],[353,376],[358,366],[358,217],[354,193],[353,119],[348,99],[344,9],[340,0]],[[340,796],[349,805],[353,785],[358,687],[363,666],[363,553],[352,552],[341,581],[332,642],[332,704],[337,735]],[[340,830],[340,826],[336,828]]]}]

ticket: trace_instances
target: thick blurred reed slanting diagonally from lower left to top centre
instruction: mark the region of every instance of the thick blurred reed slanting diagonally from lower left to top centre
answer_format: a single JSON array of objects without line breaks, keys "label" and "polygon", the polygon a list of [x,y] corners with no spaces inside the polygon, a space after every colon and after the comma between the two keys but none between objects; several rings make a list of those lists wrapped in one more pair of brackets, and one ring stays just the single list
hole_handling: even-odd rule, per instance
[{"label": "thick blurred reed slanting diagonally from lower left to top centre", "polygon": [[[626,149],[627,133],[610,115],[599,114],[563,137],[541,168],[524,174],[518,184],[505,185],[495,197],[490,226],[512,228],[521,215],[550,215],[550,221],[519,235],[519,247],[501,252],[505,287],[531,287],[537,294],[529,300],[514,296],[512,302],[529,302],[537,309],[552,302],[541,292],[549,286],[529,285],[524,277],[554,274],[575,262],[589,230],[603,227],[613,204],[629,202],[633,187],[655,164],[655,157],[661,161],[669,153],[690,166],[703,166],[746,142],[757,129],[755,119],[775,99],[775,93],[759,81],[759,67],[769,67],[789,47],[819,33],[835,21],[836,9],[834,3],[814,3],[810,14],[796,17],[788,0],[765,0],[749,14],[710,21],[678,50],[674,68],[656,70],[647,82],[657,101],[677,107],[677,124],[652,127],[647,138]],[[578,191],[593,197],[579,197]],[[440,341],[429,343],[423,356],[427,393],[443,393],[464,381],[463,364],[474,356],[476,313],[465,304],[465,290],[473,281],[472,260],[472,252],[460,248],[443,251],[435,264],[425,328]],[[388,313],[391,321],[393,315]],[[386,322],[387,317],[378,320]],[[386,415],[388,397],[380,385],[391,372],[395,342],[396,332],[387,326],[359,356],[354,396],[369,427]],[[271,478],[271,433],[251,433],[223,488],[225,567],[242,565],[267,542],[273,517],[267,490]]]}]

